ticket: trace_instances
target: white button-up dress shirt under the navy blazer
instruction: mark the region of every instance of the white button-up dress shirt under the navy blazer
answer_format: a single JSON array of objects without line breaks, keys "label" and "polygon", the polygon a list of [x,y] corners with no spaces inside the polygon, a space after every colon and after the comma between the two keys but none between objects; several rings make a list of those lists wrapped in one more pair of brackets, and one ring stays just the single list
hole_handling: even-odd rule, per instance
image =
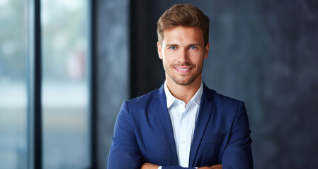
[{"label": "white button-up dress shirt under the navy blazer", "polygon": [[201,81],[200,88],[188,104],[176,99],[166,86],[166,82],[164,83],[164,92],[166,94],[166,106],[174,130],[178,162],[180,166],[188,168],[195,121],[198,117],[203,94],[203,82]]}]

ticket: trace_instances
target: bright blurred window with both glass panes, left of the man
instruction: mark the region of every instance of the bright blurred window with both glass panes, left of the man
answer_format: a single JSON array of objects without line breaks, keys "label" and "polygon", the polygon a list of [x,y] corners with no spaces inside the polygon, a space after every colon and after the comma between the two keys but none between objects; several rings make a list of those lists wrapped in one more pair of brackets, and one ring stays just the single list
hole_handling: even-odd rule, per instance
[{"label": "bright blurred window with both glass panes, left of the man", "polygon": [[[29,58],[35,54],[30,41],[37,34],[41,49],[35,50],[42,54],[42,168],[89,168],[90,1],[40,0],[40,13],[35,13],[39,21],[29,15],[35,3],[0,0],[0,168],[33,166],[28,138],[36,129],[34,110],[28,110],[36,99],[30,96],[30,69],[36,65]],[[40,22],[40,32],[34,31],[34,22]]]}]

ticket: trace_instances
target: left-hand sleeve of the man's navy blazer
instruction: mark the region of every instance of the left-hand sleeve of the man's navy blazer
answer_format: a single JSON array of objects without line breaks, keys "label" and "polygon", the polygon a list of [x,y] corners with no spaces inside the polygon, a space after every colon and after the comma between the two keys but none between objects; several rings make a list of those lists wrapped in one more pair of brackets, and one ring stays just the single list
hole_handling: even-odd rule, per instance
[{"label": "left-hand sleeve of the man's navy blazer", "polygon": [[115,122],[113,142],[108,156],[108,169],[136,168],[141,165],[141,153],[137,144],[134,125],[125,101]]}]

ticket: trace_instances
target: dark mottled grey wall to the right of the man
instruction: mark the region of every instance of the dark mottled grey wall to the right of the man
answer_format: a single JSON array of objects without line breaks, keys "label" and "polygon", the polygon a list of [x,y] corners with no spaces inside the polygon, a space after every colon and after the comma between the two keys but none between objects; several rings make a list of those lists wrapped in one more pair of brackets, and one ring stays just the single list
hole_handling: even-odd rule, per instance
[{"label": "dark mottled grey wall to the right of the man", "polygon": [[248,109],[255,168],[318,168],[317,1],[214,1],[203,79]]}]

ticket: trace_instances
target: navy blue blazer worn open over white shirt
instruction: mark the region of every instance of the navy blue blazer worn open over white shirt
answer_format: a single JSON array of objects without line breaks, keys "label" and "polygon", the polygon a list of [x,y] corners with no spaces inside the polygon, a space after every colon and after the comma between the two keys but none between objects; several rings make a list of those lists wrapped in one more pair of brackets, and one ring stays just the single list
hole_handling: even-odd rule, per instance
[{"label": "navy blue blazer worn open over white shirt", "polygon": [[[223,169],[253,168],[250,134],[244,103],[204,85],[189,167],[222,164]],[[125,101],[115,123],[108,168],[139,169],[147,162],[163,168],[181,168],[164,85]]]}]

